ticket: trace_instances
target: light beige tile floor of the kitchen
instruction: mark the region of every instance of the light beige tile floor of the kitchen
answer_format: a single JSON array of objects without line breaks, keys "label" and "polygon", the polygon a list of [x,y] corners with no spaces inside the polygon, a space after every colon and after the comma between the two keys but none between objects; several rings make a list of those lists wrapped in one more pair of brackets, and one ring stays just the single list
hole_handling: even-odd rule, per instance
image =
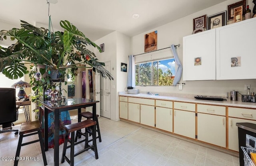
[{"label": "light beige tile floor of the kitchen", "polygon": [[[72,123],[77,117],[71,117]],[[75,157],[76,166],[239,166],[239,158],[167,136],[123,121],[99,118],[102,142],[98,142],[98,160],[89,150]],[[13,128],[20,128],[16,125]],[[35,136],[26,137],[33,140]],[[18,135],[0,134],[0,156],[14,157]],[[83,144],[75,147],[78,151]],[[60,158],[63,144],[60,145]],[[67,150],[67,154],[68,154]],[[19,166],[43,166],[40,144],[36,142],[21,148],[20,157],[39,157],[38,161],[21,160]],[[46,152],[48,166],[53,165],[53,149]],[[13,161],[0,160],[0,166],[13,166]],[[60,166],[68,166],[67,162]]]}]

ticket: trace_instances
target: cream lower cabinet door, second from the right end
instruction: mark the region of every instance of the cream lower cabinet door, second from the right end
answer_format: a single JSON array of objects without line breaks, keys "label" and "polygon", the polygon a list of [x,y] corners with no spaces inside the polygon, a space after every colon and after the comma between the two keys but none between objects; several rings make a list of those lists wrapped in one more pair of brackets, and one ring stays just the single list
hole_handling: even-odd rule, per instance
[{"label": "cream lower cabinet door, second from the right end", "polygon": [[197,139],[226,148],[226,117],[198,113]]}]

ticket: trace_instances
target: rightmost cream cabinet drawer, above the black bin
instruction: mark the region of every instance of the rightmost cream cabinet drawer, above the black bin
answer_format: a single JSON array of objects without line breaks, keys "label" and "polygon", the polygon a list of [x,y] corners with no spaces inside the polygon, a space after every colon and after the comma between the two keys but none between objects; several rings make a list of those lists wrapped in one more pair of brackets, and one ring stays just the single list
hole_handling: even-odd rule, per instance
[{"label": "rightmost cream cabinet drawer, above the black bin", "polygon": [[236,117],[242,119],[256,119],[256,109],[244,109],[228,107],[228,117]]}]

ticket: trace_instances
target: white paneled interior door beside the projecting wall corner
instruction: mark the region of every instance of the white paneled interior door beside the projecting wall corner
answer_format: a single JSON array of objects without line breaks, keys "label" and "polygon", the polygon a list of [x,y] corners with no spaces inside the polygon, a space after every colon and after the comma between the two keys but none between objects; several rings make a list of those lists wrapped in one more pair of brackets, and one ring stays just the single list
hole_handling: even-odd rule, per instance
[{"label": "white paneled interior door beside the projecting wall corner", "polygon": [[[105,62],[105,69],[110,72],[110,61]],[[100,116],[110,119],[110,79],[100,77]]]}]

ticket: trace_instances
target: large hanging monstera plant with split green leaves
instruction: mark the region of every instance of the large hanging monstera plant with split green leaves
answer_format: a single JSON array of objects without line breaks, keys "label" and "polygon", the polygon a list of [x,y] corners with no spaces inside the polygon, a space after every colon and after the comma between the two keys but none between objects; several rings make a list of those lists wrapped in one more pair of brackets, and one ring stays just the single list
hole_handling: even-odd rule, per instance
[{"label": "large hanging monstera plant with split green leaves", "polygon": [[70,22],[60,21],[60,26],[64,28],[64,32],[51,32],[21,20],[21,28],[1,30],[1,40],[7,40],[9,36],[11,40],[17,41],[8,48],[0,47],[0,72],[2,71],[10,79],[18,79],[28,73],[24,63],[32,63],[46,66],[45,70],[41,70],[42,74],[54,69],[64,77],[67,68],[87,64],[102,77],[113,79],[104,69],[104,63],[98,61],[95,54],[86,48],[92,45],[100,51],[100,47],[86,38]]}]

